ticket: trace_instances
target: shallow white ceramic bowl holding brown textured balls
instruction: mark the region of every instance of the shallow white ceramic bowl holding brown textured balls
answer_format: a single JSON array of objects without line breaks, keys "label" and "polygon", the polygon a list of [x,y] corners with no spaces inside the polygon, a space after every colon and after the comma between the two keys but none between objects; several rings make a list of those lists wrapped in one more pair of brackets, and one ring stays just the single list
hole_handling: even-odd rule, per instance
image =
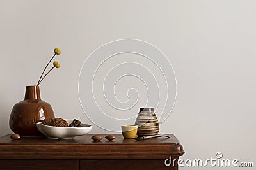
[{"label": "shallow white ceramic bowl holding brown textured balls", "polygon": [[[68,124],[71,124],[71,122],[74,119],[65,119]],[[49,126],[44,125],[42,122],[38,122],[36,124],[37,129],[44,134],[45,136],[51,137],[51,138],[61,138],[61,139],[71,139],[75,136],[88,134],[92,130],[92,125],[83,124],[82,127],[55,127],[55,126]]]}]

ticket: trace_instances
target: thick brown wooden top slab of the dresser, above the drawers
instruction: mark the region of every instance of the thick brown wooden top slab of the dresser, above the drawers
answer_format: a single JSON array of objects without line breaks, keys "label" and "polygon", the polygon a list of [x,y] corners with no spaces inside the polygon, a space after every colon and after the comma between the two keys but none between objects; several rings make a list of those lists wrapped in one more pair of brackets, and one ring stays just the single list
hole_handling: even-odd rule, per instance
[{"label": "thick brown wooden top slab of the dresser, above the drawers", "polygon": [[[0,138],[0,159],[167,159],[184,154],[182,145],[173,134],[171,138],[152,138],[144,141],[124,139],[115,134],[114,141],[103,138],[92,141],[93,134],[74,139],[22,137],[12,140],[10,135]],[[106,136],[106,134],[102,134]]]}]

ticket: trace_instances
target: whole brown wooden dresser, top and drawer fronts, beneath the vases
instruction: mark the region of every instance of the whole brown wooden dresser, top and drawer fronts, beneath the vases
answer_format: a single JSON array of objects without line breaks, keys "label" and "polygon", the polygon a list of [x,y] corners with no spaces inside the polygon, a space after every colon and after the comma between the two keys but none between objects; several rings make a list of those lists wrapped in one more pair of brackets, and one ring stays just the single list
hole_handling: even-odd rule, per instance
[{"label": "whole brown wooden dresser, top and drawer fronts, beneath the vases", "polygon": [[[0,167],[2,169],[178,169],[177,163],[166,167],[164,160],[184,154],[182,145],[173,134],[171,138],[145,141],[124,139],[115,134],[114,141],[95,142],[93,134],[74,139],[22,137],[0,138]],[[106,134],[102,134],[106,136]],[[42,165],[42,166],[40,166]],[[20,168],[19,168],[20,167]]]}]

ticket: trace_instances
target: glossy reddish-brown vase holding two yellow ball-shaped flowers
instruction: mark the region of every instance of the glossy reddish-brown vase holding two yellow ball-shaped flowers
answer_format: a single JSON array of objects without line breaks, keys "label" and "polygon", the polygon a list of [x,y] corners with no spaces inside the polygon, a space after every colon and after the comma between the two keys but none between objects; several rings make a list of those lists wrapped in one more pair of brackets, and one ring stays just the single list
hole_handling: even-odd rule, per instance
[{"label": "glossy reddish-brown vase holding two yellow ball-shaped flowers", "polygon": [[36,123],[47,117],[55,118],[51,105],[41,100],[39,86],[27,86],[24,100],[12,108],[9,125],[20,136],[42,136]]}]

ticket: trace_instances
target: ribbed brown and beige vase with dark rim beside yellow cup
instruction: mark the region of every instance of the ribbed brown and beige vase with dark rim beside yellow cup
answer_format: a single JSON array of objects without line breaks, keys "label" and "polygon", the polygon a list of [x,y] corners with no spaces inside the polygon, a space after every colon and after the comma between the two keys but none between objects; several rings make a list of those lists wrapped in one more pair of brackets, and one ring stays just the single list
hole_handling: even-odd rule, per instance
[{"label": "ribbed brown and beige vase with dark rim beside yellow cup", "polygon": [[151,136],[159,132],[159,122],[154,108],[140,108],[140,113],[136,119],[135,125],[138,125],[137,135]]}]

